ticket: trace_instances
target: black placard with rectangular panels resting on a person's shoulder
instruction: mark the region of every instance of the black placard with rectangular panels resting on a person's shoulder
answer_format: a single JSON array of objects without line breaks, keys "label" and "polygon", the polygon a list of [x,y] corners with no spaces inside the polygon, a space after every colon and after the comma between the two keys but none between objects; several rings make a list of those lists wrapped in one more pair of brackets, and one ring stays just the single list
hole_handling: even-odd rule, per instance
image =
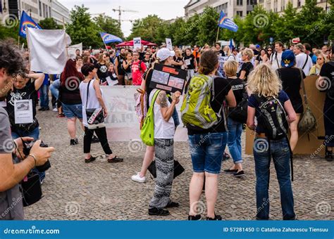
[{"label": "black placard with rectangular panels resting on a person's shoulder", "polygon": [[154,64],[149,87],[163,91],[183,92],[187,71],[177,69],[171,65]]}]

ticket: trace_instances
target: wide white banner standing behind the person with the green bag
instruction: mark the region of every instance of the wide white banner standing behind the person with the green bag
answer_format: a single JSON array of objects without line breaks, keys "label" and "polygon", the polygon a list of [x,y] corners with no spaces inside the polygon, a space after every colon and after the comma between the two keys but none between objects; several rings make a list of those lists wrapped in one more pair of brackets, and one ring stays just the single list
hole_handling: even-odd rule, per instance
[{"label": "wide white banner standing behind the person with the green bag", "polygon": [[[111,141],[141,141],[140,122],[135,112],[135,92],[138,86],[101,86],[104,103],[109,111],[106,117],[106,129]],[[183,127],[180,108],[183,102],[176,105],[180,125],[175,131],[174,141],[187,141],[187,128]]]}]

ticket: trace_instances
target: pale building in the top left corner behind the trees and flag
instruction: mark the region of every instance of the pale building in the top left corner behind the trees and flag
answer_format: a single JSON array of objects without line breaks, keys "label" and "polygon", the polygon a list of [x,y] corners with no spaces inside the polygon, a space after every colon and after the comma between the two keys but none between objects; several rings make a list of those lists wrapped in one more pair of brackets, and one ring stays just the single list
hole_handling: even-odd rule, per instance
[{"label": "pale building in the top left corner behind the trees and flag", "polygon": [[57,0],[0,0],[0,18],[15,15],[20,18],[22,11],[31,16],[35,22],[44,18],[54,18],[58,24],[70,22],[70,11]]}]

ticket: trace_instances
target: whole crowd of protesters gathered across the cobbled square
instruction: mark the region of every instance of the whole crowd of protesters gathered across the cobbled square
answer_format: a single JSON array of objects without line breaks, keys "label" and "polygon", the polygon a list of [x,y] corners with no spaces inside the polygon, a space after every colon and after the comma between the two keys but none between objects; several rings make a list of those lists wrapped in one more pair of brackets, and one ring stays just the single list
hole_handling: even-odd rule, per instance
[{"label": "whole crowd of protesters gathered across the cobbled square", "polygon": [[[141,49],[94,49],[76,51],[76,56],[70,58],[60,75],[46,75],[31,72],[24,60],[29,53],[19,53],[8,42],[0,44],[0,167],[6,174],[2,179],[10,178],[8,183],[2,183],[0,196],[10,200],[10,193],[18,195],[18,183],[30,170],[39,175],[40,183],[44,180],[44,172],[39,172],[37,166],[51,157],[54,148],[39,148],[40,141],[32,147],[29,155],[22,157],[20,149],[25,141],[39,139],[39,124],[37,120],[37,105],[39,110],[49,108],[49,91],[51,91],[51,105],[58,117],[66,117],[67,129],[70,136],[70,146],[77,146],[79,142],[76,122],[82,127],[84,162],[96,160],[91,155],[91,143],[100,142],[108,162],[123,162],[123,158],[116,156],[111,150],[106,127],[92,128],[87,122],[87,109],[100,109],[103,117],[109,115],[100,86],[138,86],[147,93],[147,108],[154,108],[154,146],[147,146],[140,172],[132,176],[133,181],[144,183],[147,168],[153,160],[156,162],[156,186],[154,195],[149,202],[149,214],[166,216],[168,208],[178,207],[178,202],[170,198],[173,185],[174,158],[173,137],[178,121],[175,105],[180,103],[180,96],[191,98],[196,91],[194,81],[197,77],[205,79],[210,84],[212,93],[210,110],[219,120],[210,127],[199,127],[185,123],[189,138],[193,174],[190,181],[190,211],[189,220],[202,218],[197,214],[197,203],[202,194],[206,195],[206,219],[221,220],[215,213],[218,197],[218,174],[221,172],[223,160],[228,146],[233,158],[233,167],[223,172],[235,177],[245,175],[242,167],[242,131],[246,122],[235,120],[229,115],[229,110],[235,110],[242,103],[247,103],[247,127],[255,131],[257,141],[266,141],[270,147],[261,152],[254,149],[256,172],[256,219],[268,219],[268,168],[273,158],[280,184],[281,205],[283,219],[293,220],[297,216],[294,212],[294,201],[290,178],[289,160],[295,150],[299,138],[298,122],[304,112],[302,96],[299,94],[304,78],[308,75],[318,75],[318,89],[333,82],[333,50],[328,46],[312,49],[309,44],[296,44],[285,47],[277,41],[273,46],[261,48],[251,44],[249,47],[221,46],[220,43],[203,47],[174,46],[173,51],[161,47],[142,47]],[[7,54],[7,55],[6,55]],[[24,58],[23,58],[23,56]],[[10,56],[11,59],[4,59]],[[183,92],[175,93],[149,89],[149,79],[155,63],[174,66],[187,71],[187,84]],[[204,86],[206,86],[204,84]],[[334,84],[330,87],[334,87]],[[211,89],[212,88],[212,89]],[[324,126],[326,133],[326,160],[333,161],[334,147],[334,93],[333,89],[326,90],[326,101],[323,108]],[[38,92],[38,93],[37,93]],[[329,92],[329,93],[328,93]],[[290,129],[290,138],[271,138],[264,128],[266,122],[263,105],[268,98],[273,98],[276,107],[286,113],[286,124]],[[16,101],[27,100],[32,103],[32,122],[18,123],[17,112],[20,107],[27,107]],[[281,108],[279,108],[281,105]],[[207,109],[206,109],[207,110]],[[274,122],[275,124],[275,122]],[[276,122],[276,124],[278,124]],[[274,125],[280,127],[281,125]],[[283,129],[284,131],[284,129]],[[96,136],[95,136],[96,135]],[[13,143],[4,143],[13,138]],[[4,148],[6,146],[6,148]],[[13,158],[12,158],[12,154]],[[14,157],[15,156],[15,157]],[[2,157],[6,157],[2,160]],[[25,160],[23,160],[25,158]],[[14,176],[13,176],[14,175]],[[2,180],[5,181],[5,180]],[[14,195],[14,194],[13,194]],[[2,199],[1,199],[2,200]],[[0,201],[0,212],[5,210],[4,200]],[[266,204],[264,205],[264,202]],[[18,214],[23,215],[23,209],[18,207]],[[23,217],[23,216],[22,216]],[[5,219],[18,219],[6,217]]]}]

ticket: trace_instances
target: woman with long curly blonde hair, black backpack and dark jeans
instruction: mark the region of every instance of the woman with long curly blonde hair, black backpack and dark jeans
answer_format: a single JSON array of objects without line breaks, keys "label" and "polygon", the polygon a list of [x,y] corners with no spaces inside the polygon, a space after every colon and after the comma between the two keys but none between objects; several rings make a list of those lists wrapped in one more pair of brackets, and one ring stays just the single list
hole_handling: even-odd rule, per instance
[{"label": "woman with long curly blonde hair, black backpack and dark jeans", "polygon": [[[290,179],[290,148],[286,131],[285,135],[272,136],[268,132],[268,112],[264,110],[266,105],[276,107],[276,112],[281,112],[280,119],[277,117],[273,127],[277,129],[281,124],[291,123],[296,120],[296,113],[292,103],[282,90],[282,84],[278,75],[270,65],[261,64],[256,67],[248,79],[248,89],[251,93],[248,100],[247,126],[256,131],[254,140],[254,161],[256,174],[256,219],[269,219],[269,172],[271,158],[275,164],[278,183],[280,185],[280,203],[283,211],[283,220],[295,220],[294,200]],[[275,108],[274,108],[275,110]],[[287,112],[287,117],[285,117]],[[284,116],[283,116],[284,113]],[[255,121],[255,117],[256,120]],[[282,122],[280,122],[280,120]]]}]

